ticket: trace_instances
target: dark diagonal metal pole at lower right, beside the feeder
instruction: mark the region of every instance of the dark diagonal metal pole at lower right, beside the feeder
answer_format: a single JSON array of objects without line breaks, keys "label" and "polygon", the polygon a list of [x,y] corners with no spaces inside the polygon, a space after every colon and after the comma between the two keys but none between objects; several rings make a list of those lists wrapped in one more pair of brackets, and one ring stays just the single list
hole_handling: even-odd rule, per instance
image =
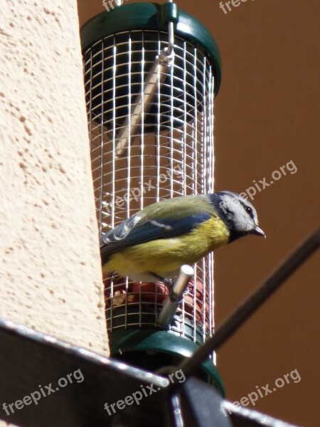
[{"label": "dark diagonal metal pole at lower right, beside the feeder", "polygon": [[[213,337],[208,339],[189,359],[184,359],[178,366],[183,374],[192,376],[201,363],[230,338],[240,326],[272,295],[309,256],[319,248],[320,228],[314,231],[306,240],[273,273],[260,285],[255,292],[242,302],[235,312],[218,328]],[[171,384],[170,390],[179,384]]]}]

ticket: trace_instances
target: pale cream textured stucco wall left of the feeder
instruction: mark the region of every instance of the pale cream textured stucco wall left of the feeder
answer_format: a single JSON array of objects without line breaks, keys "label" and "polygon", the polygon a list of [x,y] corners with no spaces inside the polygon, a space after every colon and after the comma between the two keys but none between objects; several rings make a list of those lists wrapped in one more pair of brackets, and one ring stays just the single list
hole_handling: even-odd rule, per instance
[{"label": "pale cream textured stucco wall left of the feeder", "polygon": [[106,354],[78,31],[76,0],[1,1],[0,317]]}]

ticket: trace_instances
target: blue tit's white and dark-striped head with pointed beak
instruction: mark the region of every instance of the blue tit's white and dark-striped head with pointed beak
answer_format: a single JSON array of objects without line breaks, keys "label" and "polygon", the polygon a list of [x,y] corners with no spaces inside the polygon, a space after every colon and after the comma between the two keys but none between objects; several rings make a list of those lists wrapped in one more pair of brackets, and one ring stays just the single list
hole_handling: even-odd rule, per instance
[{"label": "blue tit's white and dark-striped head with pointed beak", "polygon": [[257,211],[250,201],[232,191],[220,191],[215,197],[215,207],[230,231],[230,242],[247,234],[265,237],[258,227]]}]

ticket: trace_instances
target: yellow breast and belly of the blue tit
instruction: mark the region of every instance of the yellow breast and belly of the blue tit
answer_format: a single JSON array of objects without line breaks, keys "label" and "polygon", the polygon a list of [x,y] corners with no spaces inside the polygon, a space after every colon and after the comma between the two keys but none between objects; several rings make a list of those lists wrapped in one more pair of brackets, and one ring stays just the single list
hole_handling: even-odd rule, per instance
[{"label": "yellow breast and belly of the blue tit", "polygon": [[175,238],[142,243],[116,252],[104,270],[121,271],[124,265],[135,273],[150,271],[165,276],[178,270],[182,264],[198,262],[204,255],[229,242],[230,233],[225,223],[212,216],[191,233]]}]

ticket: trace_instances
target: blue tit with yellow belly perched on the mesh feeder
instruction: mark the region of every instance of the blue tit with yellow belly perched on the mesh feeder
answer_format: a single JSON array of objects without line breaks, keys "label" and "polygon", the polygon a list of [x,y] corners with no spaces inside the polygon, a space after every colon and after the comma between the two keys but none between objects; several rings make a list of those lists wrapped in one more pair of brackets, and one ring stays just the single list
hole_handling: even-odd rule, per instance
[{"label": "blue tit with yellow belly perched on the mesh feeder", "polygon": [[181,196],[151,204],[105,233],[102,273],[137,282],[174,278],[220,246],[249,234],[265,236],[257,212],[231,191]]}]

